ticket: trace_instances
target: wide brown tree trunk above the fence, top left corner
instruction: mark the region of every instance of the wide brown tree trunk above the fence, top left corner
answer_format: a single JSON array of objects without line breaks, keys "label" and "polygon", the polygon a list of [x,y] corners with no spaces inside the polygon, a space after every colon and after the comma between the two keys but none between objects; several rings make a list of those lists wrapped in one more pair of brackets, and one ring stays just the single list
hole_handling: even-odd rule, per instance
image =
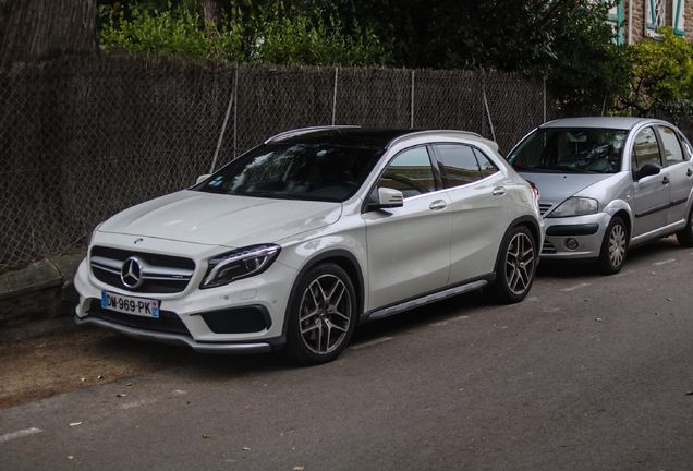
[{"label": "wide brown tree trunk above the fence, top left corner", "polygon": [[96,48],[96,0],[0,0],[0,68]]}]

